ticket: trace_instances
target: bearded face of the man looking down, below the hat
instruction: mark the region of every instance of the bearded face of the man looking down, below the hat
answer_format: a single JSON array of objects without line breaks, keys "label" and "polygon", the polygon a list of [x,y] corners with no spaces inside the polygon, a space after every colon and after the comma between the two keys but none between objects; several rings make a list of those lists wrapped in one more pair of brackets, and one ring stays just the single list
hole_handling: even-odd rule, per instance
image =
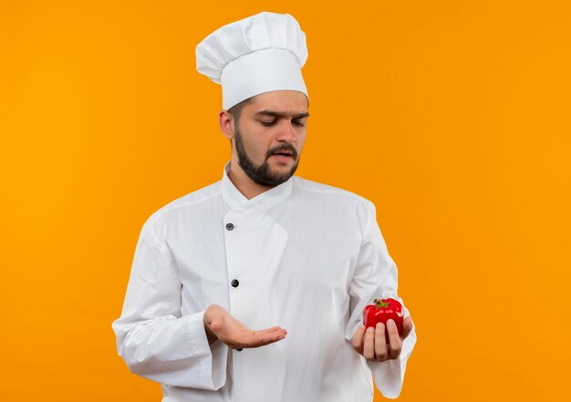
[{"label": "bearded face of the man looking down, below the hat", "polygon": [[307,98],[297,91],[257,95],[234,126],[238,165],[255,183],[276,186],[296,171],[306,140]]}]

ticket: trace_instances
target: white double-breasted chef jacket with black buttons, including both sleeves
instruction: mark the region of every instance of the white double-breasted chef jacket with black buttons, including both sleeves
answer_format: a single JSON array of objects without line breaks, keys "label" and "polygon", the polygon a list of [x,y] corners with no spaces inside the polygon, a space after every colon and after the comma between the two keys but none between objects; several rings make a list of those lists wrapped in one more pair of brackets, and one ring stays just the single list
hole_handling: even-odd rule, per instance
[{"label": "white double-breasted chef jacket with black buttons, including both sleeves", "polygon": [[[396,360],[367,361],[351,345],[366,304],[402,303],[374,205],[298,176],[248,200],[229,168],[142,227],[112,325],[130,371],[161,383],[163,402],[370,402],[372,377],[398,397],[414,329]],[[242,351],[209,345],[211,304],[287,335]]]}]

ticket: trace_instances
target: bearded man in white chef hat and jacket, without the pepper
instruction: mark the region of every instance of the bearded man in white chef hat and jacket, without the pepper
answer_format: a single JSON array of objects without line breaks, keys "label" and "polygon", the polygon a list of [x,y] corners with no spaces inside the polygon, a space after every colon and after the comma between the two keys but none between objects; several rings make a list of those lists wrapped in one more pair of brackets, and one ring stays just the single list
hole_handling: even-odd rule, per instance
[{"label": "bearded man in white chef hat and jacket, without the pepper", "polygon": [[[306,36],[291,15],[260,13],[196,47],[221,83],[232,144],[222,180],[144,223],[123,311],[113,323],[130,370],[163,401],[370,402],[398,397],[416,341],[362,311],[397,294],[397,267],[374,205],[294,176],[309,116]],[[389,345],[385,341],[389,335]]]}]

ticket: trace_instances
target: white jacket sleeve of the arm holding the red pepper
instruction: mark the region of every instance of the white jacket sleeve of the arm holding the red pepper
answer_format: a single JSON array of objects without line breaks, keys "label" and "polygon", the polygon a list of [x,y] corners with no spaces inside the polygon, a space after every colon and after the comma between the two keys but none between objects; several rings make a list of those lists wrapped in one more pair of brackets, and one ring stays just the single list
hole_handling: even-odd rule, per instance
[{"label": "white jacket sleeve of the arm holding the red pepper", "polygon": [[[404,307],[404,316],[410,316],[402,299],[397,294],[397,266],[392,261],[387,245],[381,235],[376,220],[376,210],[372,202],[358,204],[358,221],[362,230],[358,259],[349,285],[351,314],[346,328],[346,339],[351,341],[358,325],[362,324],[362,312],[367,304],[376,298],[392,297]],[[367,362],[375,385],[384,397],[399,397],[404,380],[407,361],[416,344],[415,326],[403,342],[400,357],[384,362]]]}]

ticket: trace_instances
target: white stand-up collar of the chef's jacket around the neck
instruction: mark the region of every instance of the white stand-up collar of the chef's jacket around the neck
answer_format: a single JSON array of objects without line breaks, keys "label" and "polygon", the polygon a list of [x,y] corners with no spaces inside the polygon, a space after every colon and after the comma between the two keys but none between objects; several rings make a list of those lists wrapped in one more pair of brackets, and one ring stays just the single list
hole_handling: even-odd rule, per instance
[{"label": "white stand-up collar of the chef's jacket around the neck", "polygon": [[223,201],[229,211],[265,211],[274,207],[278,203],[287,200],[290,196],[293,189],[294,176],[290,177],[282,184],[275,186],[268,191],[264,191],[248,200],[243,193],[236,189],[234,183],[228,177],[230,163],[231,161],[229,160],[224,165],[223,176],[220,184]]}]

